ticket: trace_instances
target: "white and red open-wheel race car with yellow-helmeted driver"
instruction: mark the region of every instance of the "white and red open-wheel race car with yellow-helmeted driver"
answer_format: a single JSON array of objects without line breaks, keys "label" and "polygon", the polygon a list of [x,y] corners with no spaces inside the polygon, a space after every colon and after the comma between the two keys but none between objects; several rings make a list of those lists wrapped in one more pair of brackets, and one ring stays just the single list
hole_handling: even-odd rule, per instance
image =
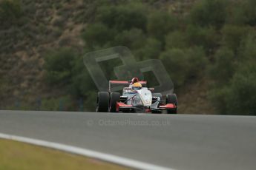
[{"label": "white and red open-wheel race car with yellow-helmeted driver", "polygon": [[[119,92],[111,92],[111,85],[128,85]],[[109,81],[108,92],[98,92],[96,112],[147,112],[177,114],[177,96],[152,93],[154,88],[146,87],[146,81],[133,78],[131,81]]]}]

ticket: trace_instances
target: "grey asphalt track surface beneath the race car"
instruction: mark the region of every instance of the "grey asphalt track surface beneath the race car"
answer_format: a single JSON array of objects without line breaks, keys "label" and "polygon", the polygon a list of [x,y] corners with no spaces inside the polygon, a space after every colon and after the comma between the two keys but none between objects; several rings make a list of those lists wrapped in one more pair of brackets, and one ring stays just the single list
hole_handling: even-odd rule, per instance
[{"label": "grey asphalt track surface beneath the race car", "polygon": [[0,111],[0,133],[172,169],[256,169],[256,117]]}]

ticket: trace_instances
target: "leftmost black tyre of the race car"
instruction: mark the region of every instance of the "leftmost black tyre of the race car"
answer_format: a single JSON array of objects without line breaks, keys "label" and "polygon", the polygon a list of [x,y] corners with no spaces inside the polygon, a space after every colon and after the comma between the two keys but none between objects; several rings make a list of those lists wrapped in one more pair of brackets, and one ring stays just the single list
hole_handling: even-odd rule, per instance
[{"label": "leftmost black tyre of the race car", "polygon": [[108,105],[109,105],[109,93],[98,92],[96,112],[108,112]]}]

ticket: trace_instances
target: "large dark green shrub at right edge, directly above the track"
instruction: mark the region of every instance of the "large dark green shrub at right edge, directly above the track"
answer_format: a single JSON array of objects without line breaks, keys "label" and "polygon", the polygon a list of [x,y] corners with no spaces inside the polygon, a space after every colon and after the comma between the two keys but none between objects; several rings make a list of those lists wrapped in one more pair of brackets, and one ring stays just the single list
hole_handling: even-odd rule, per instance
[{"label": "large dark green shrub at right edge, directly above the track", "polygon": [[220,113],[256,115],[255,47],[256,34],[250,32],[240,41],[237,55],[223,47],[214,56],[216,61],[210,70],[215,84],[209,97]]}]

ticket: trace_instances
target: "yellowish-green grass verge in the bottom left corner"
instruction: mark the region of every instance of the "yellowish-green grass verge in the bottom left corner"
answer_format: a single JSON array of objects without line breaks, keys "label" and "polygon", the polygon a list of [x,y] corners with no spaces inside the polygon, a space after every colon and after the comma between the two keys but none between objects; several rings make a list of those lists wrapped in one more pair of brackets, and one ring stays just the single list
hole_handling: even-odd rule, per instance
[{"label": "yellowish-green grass verge in the bottom left corner", "polygon": [[0,139],[0,170],[127,169],[111,163],[27,143]]}]

